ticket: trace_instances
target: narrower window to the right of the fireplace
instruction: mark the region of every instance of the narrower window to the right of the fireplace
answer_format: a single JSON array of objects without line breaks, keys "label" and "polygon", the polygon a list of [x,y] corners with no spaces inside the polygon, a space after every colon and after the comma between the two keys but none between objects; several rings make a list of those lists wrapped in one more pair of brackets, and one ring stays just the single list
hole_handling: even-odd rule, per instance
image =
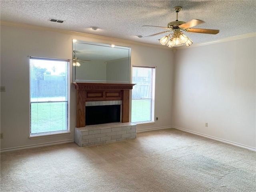
[{"label": "narrower window to the right of the fireplace", "polygon": [[132,66],[132,122],[154,120],[155,67]]}]

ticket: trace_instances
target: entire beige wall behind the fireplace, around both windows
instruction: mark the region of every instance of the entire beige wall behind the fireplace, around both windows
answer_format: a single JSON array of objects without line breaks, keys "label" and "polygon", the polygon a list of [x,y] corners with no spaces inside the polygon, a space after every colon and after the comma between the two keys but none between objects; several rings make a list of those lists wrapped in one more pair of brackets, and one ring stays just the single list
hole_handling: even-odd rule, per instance
[{"label": "entire beige wall behind the fireplace, around both windows", "polygon": [[[72,39],[94,41],[132,48],[131,64],[157,66],[156,68],[156,108],[159,120],[153,125],[138,129],[171,126],[172,67],[173,54],[168,49],[150,48],[136,44],[124,44],[115,40],[100,40],[1,25],[1,149],[45,144],[49,142],[70,141],[74,139],[76,124],[76,91],[72,82],[72,62],[70,63],[70,131],[66,136],[29,139],[29,58],[63,58],[72,60]],[[102,38],[101,38],[102,39]],[[162,93],[165,94],[162,94]],[[167,120],[164,120],[167,116]]]}]

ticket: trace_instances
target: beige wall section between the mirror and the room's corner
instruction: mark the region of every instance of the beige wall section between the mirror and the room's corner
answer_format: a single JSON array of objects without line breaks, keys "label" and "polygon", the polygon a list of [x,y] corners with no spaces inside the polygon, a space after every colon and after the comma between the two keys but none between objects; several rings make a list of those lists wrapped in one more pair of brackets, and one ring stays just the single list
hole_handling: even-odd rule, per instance
[{"label": "beige wall section between the mirror and the room's corner", "polygon": [[[156,66],[155,124],[137,125],[137,130],[167,128],[172,125],[172,87],[174,54],[170,50],[158,50],[140,46],[132,47],[132,65]],[[131,96],[130,96],[131,98]],[[166,116],[166,120],[164,117]],[[158,120],[156,120],[158,117]]]}]

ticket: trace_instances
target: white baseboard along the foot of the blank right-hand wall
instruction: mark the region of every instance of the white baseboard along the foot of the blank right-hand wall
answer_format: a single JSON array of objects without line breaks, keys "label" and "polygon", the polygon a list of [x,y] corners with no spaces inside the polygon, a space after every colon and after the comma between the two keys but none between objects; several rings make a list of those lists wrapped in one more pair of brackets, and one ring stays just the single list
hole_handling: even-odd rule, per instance
[{"label": "white baseboard along the foot of the blank right-hand wall", "polygon": [[227,144],[230,144],[230,145],[242,147],[242,148],[245,148],[245,149],[248,149],[248,150],[251,150],[251,151],[256,151],[256,148],[254,148],[254,147],[242,145],[242,144],[239,144],[239,143],[236,143],[236,142],[220,139],[220,138],[217,138],[217,137],[213,137],[213,136],[210,136],[210,135],[198,133],[198,132],[195,132],[195,131],[187,130],[187,129],[176,127],[176,126],[172,126],[172,128],[175,128],[175,129],[178,129],[178,130],[181,130],[181,131],[185,131],[185,132],[188,132],[188,133],[192,133],[192,134],[195,134],[195,135],[199,135],[199,136],[202,136],[202,137],[206,137],[206,138],[209,138],[209,139],[212,139],[212,140],[227,143]]}]

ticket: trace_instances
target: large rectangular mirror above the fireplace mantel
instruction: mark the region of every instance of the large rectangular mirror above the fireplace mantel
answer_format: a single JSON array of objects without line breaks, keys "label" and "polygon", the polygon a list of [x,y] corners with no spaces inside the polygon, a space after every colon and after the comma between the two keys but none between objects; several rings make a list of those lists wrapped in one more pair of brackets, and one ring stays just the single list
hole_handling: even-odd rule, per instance
[{"label": "large rectangular mirror above the fireplace mantel", "polygon": [[73,82],[130,83],[131,48],[73,40]]}]

